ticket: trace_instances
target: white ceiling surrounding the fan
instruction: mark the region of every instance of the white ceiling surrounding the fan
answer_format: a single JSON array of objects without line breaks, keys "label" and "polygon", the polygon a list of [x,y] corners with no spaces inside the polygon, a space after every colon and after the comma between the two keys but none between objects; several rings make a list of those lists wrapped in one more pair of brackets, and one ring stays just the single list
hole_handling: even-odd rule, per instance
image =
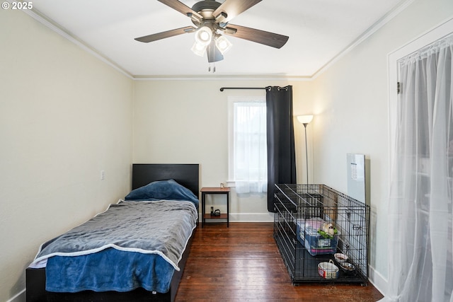
[{"label": "white ceiling surrounding the fan", "polygon": [[[287,44],[279,50],[229,36],[233,48],[215,64],[215,75],[313,76],[407,1],[263,0],[231,23],[287,35]],[[181,2],[192,7],[197,1]],[[33,10],[131,76],[210,75],[206,55],[190,51],[193,33],[134,40],[193,25],[159,1],[34,0]]]}]

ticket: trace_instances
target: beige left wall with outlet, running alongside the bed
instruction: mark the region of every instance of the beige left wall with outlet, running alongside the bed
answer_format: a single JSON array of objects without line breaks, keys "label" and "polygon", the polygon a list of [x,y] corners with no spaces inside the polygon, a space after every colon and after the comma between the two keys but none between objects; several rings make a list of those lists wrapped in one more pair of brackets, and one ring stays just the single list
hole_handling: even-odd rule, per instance
[{"label": "beige left wall with outlet, running alongside the bed", "polygon": [[133,82],[21,11],[0,10],[0,41],[3,302],[42,242],[130,189]]}]

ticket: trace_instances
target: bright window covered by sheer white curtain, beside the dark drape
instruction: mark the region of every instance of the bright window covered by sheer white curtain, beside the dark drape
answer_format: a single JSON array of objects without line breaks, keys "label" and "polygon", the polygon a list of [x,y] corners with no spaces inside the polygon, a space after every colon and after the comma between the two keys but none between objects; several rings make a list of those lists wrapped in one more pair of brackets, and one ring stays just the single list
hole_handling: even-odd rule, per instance
[{"label": "bright window covered by sheer white curtain, beside the dark drape", "polygon": [[229,178],[236,192],[266,192],[268,156],[265,96],[229,98]]}]

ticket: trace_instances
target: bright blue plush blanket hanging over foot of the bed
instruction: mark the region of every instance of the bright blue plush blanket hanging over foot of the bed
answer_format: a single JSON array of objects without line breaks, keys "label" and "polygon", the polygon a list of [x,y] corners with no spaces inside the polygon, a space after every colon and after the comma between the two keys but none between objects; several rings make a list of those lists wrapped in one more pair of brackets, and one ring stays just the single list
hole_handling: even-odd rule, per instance
[{"label": "bright blue plush blanket hanging over foot of the bed", "polygon": [[74,293],[132,291],[143,287],[166,293],[174,271],[173,266],[159,255],[108,248],[91,255],[49,258],[46,290]]}]

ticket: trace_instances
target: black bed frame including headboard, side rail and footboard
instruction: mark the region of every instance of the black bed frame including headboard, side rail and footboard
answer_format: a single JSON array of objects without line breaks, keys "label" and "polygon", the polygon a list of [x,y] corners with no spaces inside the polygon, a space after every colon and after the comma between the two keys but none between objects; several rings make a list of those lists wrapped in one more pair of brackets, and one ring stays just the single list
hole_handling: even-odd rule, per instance
[{"label": "black bed frame including headboard, side rail and footboard", "polygon": [[[148,164],[137,163],[132,165],[132,190],[147,185],[156,180],[176,180],[180,185],[187,187],[195,196],[200,194],[200,168],[198,164]],[[134,291],[120,293],[117,291],[81,291],[78,293],[52,293],[45,290],[45,268],[25,270],[26,301],[27,302],[63,302],[63,301],[107,301],[107,302],[130,302],[130,301],[174,301],[178,291],[179,281],[183,275],[185,262],[188,259],[190,245],[192,244],[193,231],[183,257],[179,262],[180,271],[175,271],[171,279],[170,291],[165,294],[152,294],[150,291],[139,288]]]}]

